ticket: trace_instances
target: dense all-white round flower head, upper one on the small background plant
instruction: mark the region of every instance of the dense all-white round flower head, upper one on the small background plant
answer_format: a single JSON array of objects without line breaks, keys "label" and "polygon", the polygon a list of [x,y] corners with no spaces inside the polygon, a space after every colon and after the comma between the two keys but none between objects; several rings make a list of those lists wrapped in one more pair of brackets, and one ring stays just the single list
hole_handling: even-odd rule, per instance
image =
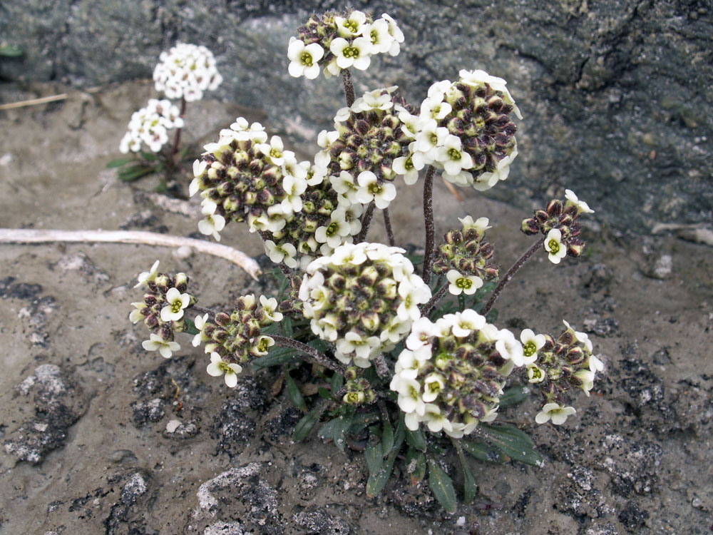
[{"label": "dense all-white round flower head, upper one on the small background plant", "polygon": [[215,58],[205,46],[178,43],[168,52],[162,52],[159,60],[153,79],[156,91],[165,93],[168,98],[200,101],[203,91],[213,91],[222,83]]}]

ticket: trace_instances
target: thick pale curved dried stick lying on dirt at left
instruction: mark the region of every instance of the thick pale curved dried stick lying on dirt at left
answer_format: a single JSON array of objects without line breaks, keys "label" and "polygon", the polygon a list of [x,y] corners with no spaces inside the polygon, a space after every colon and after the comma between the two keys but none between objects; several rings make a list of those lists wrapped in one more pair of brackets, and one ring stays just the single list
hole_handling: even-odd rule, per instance
[{"label": "thick pale curved dried stick lying on dirt at left", "polygon": [[183,236],[171,236],[133,230],[36,230],[29,228],[0,228],[0,243],[138,243],[160,247],[188,245],[198,253],[225,258],[247,271],[253,279],[262,272],[253,258],[227,245]]}]

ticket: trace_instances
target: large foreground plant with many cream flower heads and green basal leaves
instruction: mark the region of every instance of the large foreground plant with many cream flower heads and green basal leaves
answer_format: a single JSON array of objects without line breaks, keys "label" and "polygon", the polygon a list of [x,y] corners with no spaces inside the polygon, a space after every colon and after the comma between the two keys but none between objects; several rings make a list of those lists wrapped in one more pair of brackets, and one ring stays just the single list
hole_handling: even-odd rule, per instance
[{"label": "large foreground plant with many cream flower heads and green basal leaves", "polygon": [[[579,218],[593,210],[570,190],[523,220],[526,235],[541,235],[505,274],[486,241],[487,218],[461,218],[436,244],[431,197],[437,170],[445,180],[476,190],[506,180],[517,156],[513,116],[521,118],[506,82],[484,71],[438,81],[420,106],[396,87],[356,98],[350,68],[371,56],[399,53],[404,36],[384,14],[361,11],[312,16],[288,44],[292,76],[342,76],[347,106],[334,130],[322,131],[312,162],[297,161],[278,136],[237,118],[205,146],[193,165],[190,194],[200,192],[198,229],[216,240],[231,223],[259,233],[277,266],[274,296],[244,295],[232,310],[197,305],[183,273],[139,277],[146,293],[130,320],[150,330],[147,350],[170,357],[174,334],[193,335],[210,356],[207,373],[235,387],[237,374],[282,367],[287,394],[304,411],[294,441],[321,422],[319,436],[339,449],[364,452],[366,492],[379,494],[394,464],[429,487],[448,511],[456,492],[441,464],[451,449],[460,460],[463,499],[476,493],[468,457],[542,466],[527,434],[498,424],[499,410],[538,390],[538,424],[564,424],[575,409],[569,393],[590,394],[602,362],[588,336],[564,322],[556,337],[495,325],[493,305],[533,255],[553,264],[584,248]],[[178,90],[177,90],[178,91]],[[421,173],[423,171],[423,173]],[[394,180],[423,183],[424,254],[396,247],[389,204]],[[367,238],[374,212],[384,215],[388,245]],[[448,299],[448,296],[453,296]],[[193,320],[188,318],[189,312]],[[300,361],[324,379],[310,409],[292,372]],[[525,385],[523,387],[523,384]]]}]

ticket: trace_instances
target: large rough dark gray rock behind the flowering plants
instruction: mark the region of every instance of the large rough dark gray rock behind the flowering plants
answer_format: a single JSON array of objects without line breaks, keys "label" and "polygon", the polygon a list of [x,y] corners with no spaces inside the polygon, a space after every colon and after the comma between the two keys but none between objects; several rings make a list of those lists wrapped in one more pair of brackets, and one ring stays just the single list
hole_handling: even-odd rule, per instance
[{"label": "large rough dark gray rock behind the flowering plants", "polygon": [[[76,86],[148,78],[175,41],[205,44],[225,77],[215,96],[264,108],[294,143],[314,151],[343,97],[338,81],[289,77],[287,42],[311,11],[340,5],[6,2],[3,37],[25,54],[3,61],[0,75]],[[357,91],[396,83],[418,103],[434,81],[475,67],[510,82],[525,116],[521,156],[508,185],[488,195],[527,208],[532,196],[546,200],[572,188],[595,218],[617,228],[713,218],[713,185],[705,180],[713,173],[709,6],[391,0],[358,7],[394,16],[406,43],[400,56],[356,73]]]}]

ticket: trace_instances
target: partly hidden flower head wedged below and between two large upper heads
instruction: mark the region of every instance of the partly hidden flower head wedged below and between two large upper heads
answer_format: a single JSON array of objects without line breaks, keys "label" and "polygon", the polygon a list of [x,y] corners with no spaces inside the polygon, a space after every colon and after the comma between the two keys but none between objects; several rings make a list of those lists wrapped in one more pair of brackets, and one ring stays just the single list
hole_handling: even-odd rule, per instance
[{"label": "partly hidden flower head wedged below and between two large upper heads", "polygon": [[319,168],[309,168],[302,209],[285,215],[285,225],[268,232],[265,253],[275,263],[304,269],[319,256],[328,256],[343,243],[352,243],[361,230],[361,204],[339,195]]}]

